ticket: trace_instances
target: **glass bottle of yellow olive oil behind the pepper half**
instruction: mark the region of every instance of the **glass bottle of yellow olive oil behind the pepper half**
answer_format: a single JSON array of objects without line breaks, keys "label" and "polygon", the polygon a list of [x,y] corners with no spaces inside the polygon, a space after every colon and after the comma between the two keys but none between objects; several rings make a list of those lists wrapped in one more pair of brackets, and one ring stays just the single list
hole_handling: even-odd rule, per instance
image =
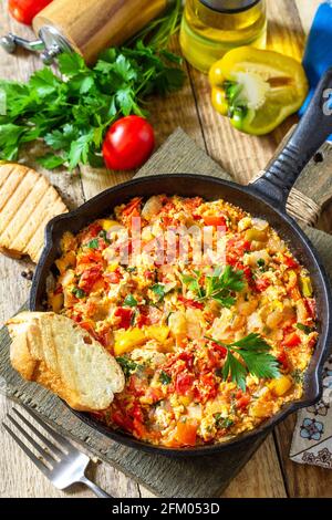
[{"label": "glass bottle of yellow olive oil behind the pepper half", "polygon": [[264,0],[186,0],[180,45],[195,69],[207,73],[231,49],[266,42]]}]

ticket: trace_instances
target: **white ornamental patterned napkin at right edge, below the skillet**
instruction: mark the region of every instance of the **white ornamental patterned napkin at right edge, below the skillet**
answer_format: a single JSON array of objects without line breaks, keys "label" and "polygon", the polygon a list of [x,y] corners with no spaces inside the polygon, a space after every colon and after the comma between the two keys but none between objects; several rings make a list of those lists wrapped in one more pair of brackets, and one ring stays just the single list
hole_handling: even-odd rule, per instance
[{"label": "white ornamental patterned napkin at right edge, below the skillet", "polygon": [[322,399],[298,414],[290,458],[332,469],[332,354],[323,371]]}]

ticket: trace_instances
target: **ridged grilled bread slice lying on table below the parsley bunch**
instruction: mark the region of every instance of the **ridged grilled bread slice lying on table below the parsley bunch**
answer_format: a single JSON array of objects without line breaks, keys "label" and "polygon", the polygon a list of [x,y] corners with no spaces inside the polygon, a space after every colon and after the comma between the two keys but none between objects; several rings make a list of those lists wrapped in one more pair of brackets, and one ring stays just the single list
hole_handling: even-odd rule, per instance
[{"label": "ridged grilled bread slice lying on table below the parsley bunch", "polygon": [[49,220],[68,209],[49,180],[18,164],[0,165],[0,251],[38,262]]}]

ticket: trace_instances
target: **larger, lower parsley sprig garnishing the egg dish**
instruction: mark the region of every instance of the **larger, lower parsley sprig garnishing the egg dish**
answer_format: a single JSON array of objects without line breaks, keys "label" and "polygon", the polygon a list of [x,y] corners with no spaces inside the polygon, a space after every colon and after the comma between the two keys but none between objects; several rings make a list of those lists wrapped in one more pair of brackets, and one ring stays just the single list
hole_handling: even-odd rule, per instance
[{"label": "larger, lower parsley sprig garnishing the egg dish", "polygon": [[[271,346],[259,335],[251,333],[235,343],[222,343],[207,337],[224,349],[227,349],[227,357],[222,367],[222,377],[226,381],[230,375],[243,392],[246,392],[246,377],[252,374],[266,379],[280,375],[278,360],[269,354]],[[240,361],[235,354],[238,354]]]}]

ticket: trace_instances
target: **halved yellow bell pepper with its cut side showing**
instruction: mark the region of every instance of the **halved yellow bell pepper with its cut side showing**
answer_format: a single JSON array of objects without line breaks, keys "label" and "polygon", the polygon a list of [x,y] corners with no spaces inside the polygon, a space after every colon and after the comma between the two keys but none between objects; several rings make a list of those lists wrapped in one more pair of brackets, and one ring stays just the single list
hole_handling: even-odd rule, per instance
[{"label": "halved yellow bell pepper with its cut side showing", "polygon": [[301,107],[309,90],[301,63],[251,46],[225,54],[211,66],[209,81],[214,107],[252,135],[272,132]]}]

